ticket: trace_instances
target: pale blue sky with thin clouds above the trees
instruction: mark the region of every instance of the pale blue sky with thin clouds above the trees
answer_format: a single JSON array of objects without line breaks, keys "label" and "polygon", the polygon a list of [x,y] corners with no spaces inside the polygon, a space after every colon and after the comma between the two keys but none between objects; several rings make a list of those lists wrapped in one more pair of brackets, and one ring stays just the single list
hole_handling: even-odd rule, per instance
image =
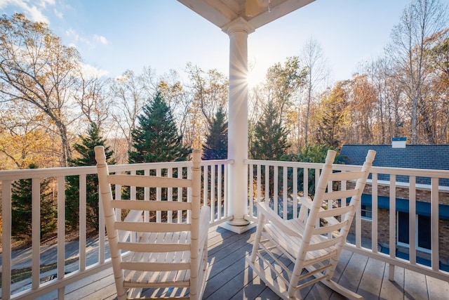
[{"label": "pale blue sky with thin clouds above the trees", "polygon": [[[449,0],[441,0],[443,4]],[[316,0],[248,36],[250,78],[310,39],[319,43],[332,81],[351,79],[361,63],[382,56],[410,0]],[[151,67],[158,75],[187,63],[229,74],[229,37],[175,0],[0,0],[0,13],[48,23],[83,62],[109,77]]]}]

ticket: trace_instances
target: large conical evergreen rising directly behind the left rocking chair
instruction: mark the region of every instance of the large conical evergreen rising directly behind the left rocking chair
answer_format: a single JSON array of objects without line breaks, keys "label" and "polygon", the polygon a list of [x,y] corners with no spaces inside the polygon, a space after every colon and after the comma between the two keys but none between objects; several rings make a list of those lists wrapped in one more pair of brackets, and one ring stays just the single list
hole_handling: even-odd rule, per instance
[{"label": "large conical evergreen rising directly behind the left rocking chair", "polygon": [[131,164],[177,162],[187,158],[190,150],[182,145],[170,107],[160,92],[143,107],[138,120],[139,125],[131,132],[134,149],[128,153]]}]

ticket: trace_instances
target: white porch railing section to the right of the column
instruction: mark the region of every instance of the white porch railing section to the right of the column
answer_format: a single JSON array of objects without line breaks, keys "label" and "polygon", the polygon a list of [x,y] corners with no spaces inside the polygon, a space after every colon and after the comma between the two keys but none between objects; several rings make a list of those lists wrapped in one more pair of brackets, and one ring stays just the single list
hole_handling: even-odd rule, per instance
[{"label": "white porch railing section to the right of the column", "polygon": [[[309,173],[319,174],[322,164],[304,163],[304,162],[275,162],[275,161],[257,161],[248,160],[249,167],[249,214],[248,219],[255,221],[257,219],[257,211],[255,203],[267,200],[265,195],[269,195],[268,200],[270,206],[283,219],[291,219],[297,217],[299,211],[299,197],[304,194],[304,191],[309,190]],[[357,169],[356,166],[337,164],[335,170],[347,171]],[[318,180],[319,176],[315,176]],[[380,180],[379,178],[388,178]],[[400,180],[398,180],[401,179]],[[406,182],[404,181],[406,178]],[[417,183],[417,178],[420,181],[427,183]],[[354,235],[351,242],[346,244],[349,251],[357,252],[359,254],[373,257],[380,261],[390,263],[389,279],[394,279],[394,266],[400,266],[417,273],[429,275],[434,278],[449,281],[448,273],[448,257],[441,256],[441,241],[440,229],[448,230],[449,221],[446,220],[446,225],[441,225],[439,217],[439,206],[445,204],[449,206],[449,186],[448,180],[449,171],[429,170],[429,169],[400,169],[387,167],[373,167],[371,169],[370,180],[367,183],[368,190],[370,189],[372,216],[370,222],[371,230],[369,237],[362,237],[362,222],[367,222],[366,219],[361,218],[361,207],[358,207],[356,218],[354,219]],[[444,181],[445,185],[439,185],[438,182]],[[294,184],[296,183],[296,184]],[[313,184],[313,183],[312,183]],[[389,214],[388,223],[378,222],[379,209],[379,191],[381,188],[387,187],[389,190],[389,210],[396,211],[396,190],[398,188],[408,190],[408,211],[409,211],[409,244],[407,244],[406,256],[400,254],[400,247],[398,247],[398,219],[397,214]],[[344,186],[342,188],[345,188]],[[430,202],[430,223],[431,223],[431,249],[427,250],[429,256],[429,266],[424,263],[417,262],[420,257],[417,249],[417,236],[415,228],[417,228],[417,195],[421,191],[429,193]],[[440,197],[445,195],[445,203],[440,201]],[[413,201],[410,201],[413,200]],[[346,201],[339,203],[330,202],[328,207],[336,207],[337,205],[345,205]],[[443,223],[444,224],[444,223]],[[385,230],[389,233],[388,242],[385,246],[380,247],[378,240],[378,232]],[[447,233],[446,233],[447,234]],[[349,240],[349,239],[348,239]],[[381,249],[379,249],[381,248]],[[387,253],[382,253],[382,249],[387,249]],[[397,249],[397,250],[396,250]],[[385,252],[385,251],[384,251]],[[404,254],[401,252],[401,254]],[[447,254],[446,254],[447,255]],[[443,263],[441,263],[443,261]],[[443,268],[443,269],[442,269]]]}]

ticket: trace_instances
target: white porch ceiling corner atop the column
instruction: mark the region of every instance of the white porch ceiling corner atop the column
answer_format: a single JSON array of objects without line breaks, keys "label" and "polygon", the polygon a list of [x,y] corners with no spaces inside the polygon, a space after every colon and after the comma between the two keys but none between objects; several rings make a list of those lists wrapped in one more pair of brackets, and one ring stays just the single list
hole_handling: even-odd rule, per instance
[{"label": "white porch ceiling corner atop the column", "polygon": [[315,0],[178,0],[220,28],[243,18],[256,30]]}]

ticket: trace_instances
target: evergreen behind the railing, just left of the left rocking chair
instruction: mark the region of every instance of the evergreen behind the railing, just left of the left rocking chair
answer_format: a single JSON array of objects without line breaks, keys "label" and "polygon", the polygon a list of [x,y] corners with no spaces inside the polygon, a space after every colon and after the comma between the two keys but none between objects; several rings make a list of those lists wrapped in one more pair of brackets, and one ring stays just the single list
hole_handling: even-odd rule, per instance
[{"label": "evergreen behind the railing, just left of the left rocking chair", "polygon": [[[79,136],[82,143],[76,143],[73,148],[79,153],[79,157],[69,159],[71,167],[94,166],[94,148],[97,145],[105,146],[105,139],[100,136],[100,129],[97,124],[91,123],[86,137]],[[108,164],[114,164],[112,150],[105,146],[106,160]],[[78,227],[79,222],[79,176],[67,176],[67,187],[65,189],[65,218],[69,229]],[[86,221],[88,229],[98,228],[98,178],[96,175],[86,176]]]}]

